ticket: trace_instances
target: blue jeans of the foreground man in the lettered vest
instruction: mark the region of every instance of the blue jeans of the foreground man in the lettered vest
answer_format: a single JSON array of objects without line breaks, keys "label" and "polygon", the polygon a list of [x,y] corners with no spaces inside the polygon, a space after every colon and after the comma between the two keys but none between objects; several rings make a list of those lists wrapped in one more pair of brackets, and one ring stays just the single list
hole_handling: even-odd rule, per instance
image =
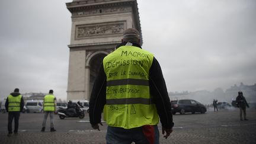
[{"label": "blue jeans of the foreground man in the lettered vest", "polygon": [[[130,144],[132,142],[135,142],[136,144],[146,144],[149,143],[148,138],[145,136],[145,127],[136,127],[133,129],[123,129],[121,127],[111,127],[108,126],[107,128],[107,135],[106,135],[106,140],[107,144],[111,143],[120,143],[120,144]],[[154,125],[152,126],[153,133],[153,143],[154,144],[159,144],[159,130],[158,126]]]}]

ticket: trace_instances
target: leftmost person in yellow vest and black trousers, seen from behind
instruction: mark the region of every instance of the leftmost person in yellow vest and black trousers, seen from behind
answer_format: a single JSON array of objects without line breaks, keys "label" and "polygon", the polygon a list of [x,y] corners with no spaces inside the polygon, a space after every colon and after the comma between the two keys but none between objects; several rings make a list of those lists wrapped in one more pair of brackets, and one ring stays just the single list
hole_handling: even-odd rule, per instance
[{"label": "leftmost person in yellow vest and black trousers, seen from behind", "polygon": [[8,135],[12,135],[12,120],[14,119],[14,134],[18,134],[18,121],[20,119],[20,111],[23,110],[24,101],[18,88],[8,95],[5,101],[5,110],[8,112]]}]

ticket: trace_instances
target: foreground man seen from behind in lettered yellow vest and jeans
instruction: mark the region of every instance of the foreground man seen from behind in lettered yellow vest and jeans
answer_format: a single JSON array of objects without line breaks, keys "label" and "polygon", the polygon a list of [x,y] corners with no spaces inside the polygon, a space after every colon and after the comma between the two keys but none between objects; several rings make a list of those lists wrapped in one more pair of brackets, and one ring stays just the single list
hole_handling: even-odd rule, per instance
[{"label": "foreground man seen from behind in lettered yellow vest and jeans", "polygon": [[165,139],[174,126],[161,67],[139,43],[139,31],[125,30],[116,50],[104,57],[92,88],[89,120],[100,130],[104,111],[107,143],[159,143],[159,118]]}]

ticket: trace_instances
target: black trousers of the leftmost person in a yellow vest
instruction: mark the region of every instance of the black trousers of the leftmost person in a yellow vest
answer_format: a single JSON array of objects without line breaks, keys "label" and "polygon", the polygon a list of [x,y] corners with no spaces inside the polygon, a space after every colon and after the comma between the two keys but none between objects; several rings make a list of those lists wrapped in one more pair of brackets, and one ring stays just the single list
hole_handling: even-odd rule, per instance
[{"label": "black trousers of the leftmost person in a yellow vest", "polygon": [[14,119],[14,133],[18,132],[18,120],[20,119],[20,111],[8,112],[8,132],[12,133],[12,120]]}]

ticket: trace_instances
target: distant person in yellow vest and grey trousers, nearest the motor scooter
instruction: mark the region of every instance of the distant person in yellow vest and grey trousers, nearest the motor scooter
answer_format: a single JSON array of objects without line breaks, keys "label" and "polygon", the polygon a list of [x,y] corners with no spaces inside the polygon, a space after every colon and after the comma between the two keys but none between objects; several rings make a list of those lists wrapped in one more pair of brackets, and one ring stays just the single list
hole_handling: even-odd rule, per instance
[{"label": "distant person in yellow vest and grey trousers, nearest the motor scooter", "polygon": [[48,114],[50,114],[50,132],[55,132],[56,130],[54,128],[53,114],[56,113],[56,97],[53,95],[52,89],[50,89],[49,94],[44,96],[43,111],[44,119],[41,132],[44,132],[45,130]]}]

